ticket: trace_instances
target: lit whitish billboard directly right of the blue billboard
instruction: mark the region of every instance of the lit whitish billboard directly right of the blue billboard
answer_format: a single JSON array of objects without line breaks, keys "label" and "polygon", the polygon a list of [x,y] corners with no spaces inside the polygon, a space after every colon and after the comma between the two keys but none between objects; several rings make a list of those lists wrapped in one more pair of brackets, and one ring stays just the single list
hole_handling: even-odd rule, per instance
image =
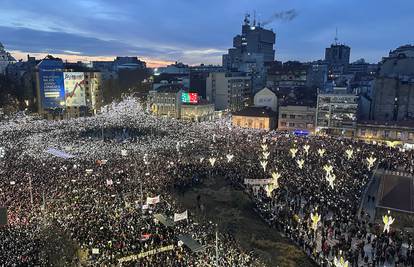
[{"label": "lit whitish billboard directly right of the blue billboard", "polygon": [[83,72],[64,72],[65,101],[67,107],[86,106],[85,75]]}]

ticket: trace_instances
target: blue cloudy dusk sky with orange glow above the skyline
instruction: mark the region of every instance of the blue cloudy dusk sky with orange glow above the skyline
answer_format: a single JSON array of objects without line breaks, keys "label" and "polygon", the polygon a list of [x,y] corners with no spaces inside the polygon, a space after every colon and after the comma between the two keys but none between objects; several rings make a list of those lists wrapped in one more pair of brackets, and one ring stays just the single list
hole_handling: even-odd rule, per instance
[{"label": "blue cloudy dusk sky with orange glow above the skyline", "polygon": [[0,42],[17,58],[53,54],[68,60],[139,56],[220,64],[246,12],[276,32],[277,60],[316,60],[333,42],[351,59],[378,62],[414,43],[412,0],[0,0]]}]

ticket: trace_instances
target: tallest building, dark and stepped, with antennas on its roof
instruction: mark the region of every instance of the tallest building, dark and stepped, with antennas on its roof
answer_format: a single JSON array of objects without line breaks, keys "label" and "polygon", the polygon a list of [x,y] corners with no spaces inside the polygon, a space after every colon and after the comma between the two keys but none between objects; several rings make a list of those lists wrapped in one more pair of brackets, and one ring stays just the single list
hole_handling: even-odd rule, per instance
[{"label": "tallest building, dark and stepped, with antennas on its roof", "polygon": [[254,91],[260,90],[266,81],[265,63],[275,59],[275,40],[276,34],[272,30],[256,25],[256,21],[250,23],[249,15],[246,15],[242,33],[233,38],[233,47],[223,55],[223,67],[249,73]]}]

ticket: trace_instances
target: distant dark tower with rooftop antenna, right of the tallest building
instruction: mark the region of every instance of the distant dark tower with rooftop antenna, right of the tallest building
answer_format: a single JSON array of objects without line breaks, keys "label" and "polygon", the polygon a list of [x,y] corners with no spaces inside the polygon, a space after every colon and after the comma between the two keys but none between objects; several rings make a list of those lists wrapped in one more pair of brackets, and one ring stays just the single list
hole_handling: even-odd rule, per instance
[{"label": "distant dark tower with rooftop antenna, right of the tallest building", "polygon": [[333,75],[340,75],[346,72],[349,65],[351,48],[344,44],[335,43],[325,49],[325,62]]}]

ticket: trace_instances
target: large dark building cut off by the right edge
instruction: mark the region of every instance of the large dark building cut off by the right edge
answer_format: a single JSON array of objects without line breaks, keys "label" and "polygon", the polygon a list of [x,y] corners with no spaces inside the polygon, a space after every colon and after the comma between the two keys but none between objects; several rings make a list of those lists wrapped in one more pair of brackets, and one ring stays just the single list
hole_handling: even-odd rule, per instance
[{"label": "large dark building cut off by the right edge", "polygon": [[373,120],[414,119],[414,46],[397,48],[383,58],[374,82]]}]

